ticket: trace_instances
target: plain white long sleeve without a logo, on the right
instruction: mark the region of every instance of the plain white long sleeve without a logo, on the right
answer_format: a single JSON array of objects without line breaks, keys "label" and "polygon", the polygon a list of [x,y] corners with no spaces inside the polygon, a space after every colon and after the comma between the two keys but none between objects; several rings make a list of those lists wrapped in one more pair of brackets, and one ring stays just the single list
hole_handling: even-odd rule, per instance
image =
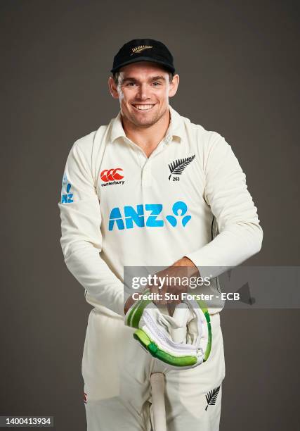
[{"label": "plain white long sleeve without a logo, on the right", "polygon": [[258,253],[263,231],[230,145],[214,132],[204,153],[204,199],[216,218],[219,235],[186,256],[203,276],[217,277]]}]

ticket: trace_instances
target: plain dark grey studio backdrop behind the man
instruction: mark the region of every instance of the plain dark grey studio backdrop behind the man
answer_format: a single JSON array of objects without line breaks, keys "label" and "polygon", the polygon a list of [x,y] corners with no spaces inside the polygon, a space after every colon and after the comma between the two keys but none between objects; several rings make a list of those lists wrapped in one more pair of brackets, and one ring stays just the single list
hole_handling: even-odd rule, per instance
[{"label": "plain dark grey studio backdrop behind the man", "polygon": [[[181,77],[171,105],[221,133],[247,173],[264,231],[247,264],[297,266],[299,6],[2,0],[0,12],[0,415],[51,415],[56,430],[84,430],[91,307],[63,262],[58,201],[73,142],[118,112],[107,89],[113,55],[135,37],[169,46]],[[222,431],[297,429],[299,316],[222,311]]]}]

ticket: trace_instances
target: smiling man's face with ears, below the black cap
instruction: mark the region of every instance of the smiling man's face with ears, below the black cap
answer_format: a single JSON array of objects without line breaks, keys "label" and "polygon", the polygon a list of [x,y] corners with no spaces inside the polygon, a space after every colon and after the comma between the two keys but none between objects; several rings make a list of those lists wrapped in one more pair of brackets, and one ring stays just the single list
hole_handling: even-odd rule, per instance
[{"label": "smiling man's face with ears, below the black cap", "polygon": [[141,61],[121,68],[118,85],[110,77],[109,86],[123,118],[136,127],[150,127],[168,111],[178,82],[178,75],[170,82],[169,73],[159,65]]}]

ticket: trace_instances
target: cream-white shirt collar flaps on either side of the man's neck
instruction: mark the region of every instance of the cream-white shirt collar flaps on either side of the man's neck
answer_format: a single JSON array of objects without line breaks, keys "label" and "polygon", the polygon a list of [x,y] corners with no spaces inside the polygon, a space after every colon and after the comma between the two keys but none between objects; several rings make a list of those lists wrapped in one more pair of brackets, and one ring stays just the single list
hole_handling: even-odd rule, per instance
[{"label": "cream-white shirt collar flaps on either side of the man's neck", "polygon": [[[167,142],[171,140],[172,137],[176,136],[179,139],[183,138],[183,132],[184,132],[184,123],[183,118],[181,115],[175,111],[174,108],[172,108],[169,105],[171,120],[169,127],[166,132],[166,138]],[[126,137],[123,126],[122,126],[122,117],[121,117],[121,111],[119,111],[116,118],[112,119],[112,126],[110,130],[110,141],[113,142],[115,139],[119,137]]]}]

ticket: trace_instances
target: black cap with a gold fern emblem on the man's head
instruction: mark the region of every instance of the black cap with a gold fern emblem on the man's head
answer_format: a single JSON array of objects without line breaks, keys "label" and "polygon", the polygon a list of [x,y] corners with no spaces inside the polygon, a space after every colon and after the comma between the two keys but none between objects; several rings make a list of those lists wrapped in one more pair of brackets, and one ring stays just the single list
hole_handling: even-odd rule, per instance
[{"label": "black cap with a gold fern emblem on the man's head", "polygon": [[167,46],[154,39],[133,39],[119,49],[114,57],[112,73],[117,72],[124,65],[138,61],[152,61],[158,63],[171,73],[175,73],[173,56]]}]

